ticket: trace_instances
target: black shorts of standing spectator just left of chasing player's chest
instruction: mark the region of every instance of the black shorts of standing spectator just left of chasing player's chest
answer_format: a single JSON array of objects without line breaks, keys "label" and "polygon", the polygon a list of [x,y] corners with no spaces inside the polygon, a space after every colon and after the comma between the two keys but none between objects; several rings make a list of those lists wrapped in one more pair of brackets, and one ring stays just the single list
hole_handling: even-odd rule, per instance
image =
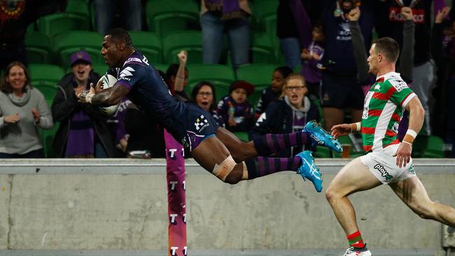
[{"label": "black shorts of standing spectator just left of chasing player's chest", "polygon": [[321,106],[330,108],[362,109],[362,87],[358,85],[357,76],[337,76],[332,73],[322,74]]}]

